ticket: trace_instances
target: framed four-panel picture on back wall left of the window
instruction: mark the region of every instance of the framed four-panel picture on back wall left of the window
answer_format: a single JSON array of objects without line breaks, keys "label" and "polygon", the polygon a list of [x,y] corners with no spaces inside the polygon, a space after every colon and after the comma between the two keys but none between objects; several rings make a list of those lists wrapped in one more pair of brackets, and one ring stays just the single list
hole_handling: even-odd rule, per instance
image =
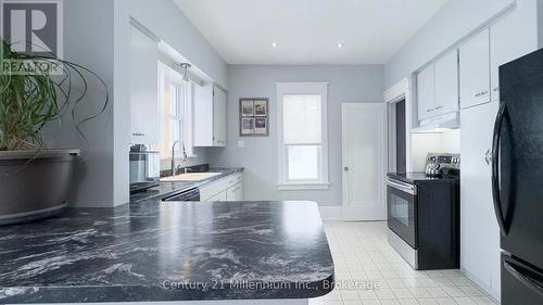
[{"label": "framed four-panel picture on back wall left of the window", "polygon": [[241,137],[269,136],[268,99],[243,98],[239,100],[239,126]]}]

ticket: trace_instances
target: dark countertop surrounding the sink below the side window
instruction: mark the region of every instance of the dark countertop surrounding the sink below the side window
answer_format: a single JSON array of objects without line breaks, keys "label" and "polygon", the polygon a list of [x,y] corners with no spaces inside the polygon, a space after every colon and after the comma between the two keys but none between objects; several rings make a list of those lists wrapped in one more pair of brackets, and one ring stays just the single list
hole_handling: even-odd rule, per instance
[{"label": "dark countertop surrounding the sink below the side window", "polygon": [[182,191],[187,191],[193,188],[201,187],[203,185],[216,181],[218,179],[222,179],[226,176],[236,174],[236,173],[241,173],[243,171],[243,167],[212,167],[209,170],[210,173],[220,173],[220,175],[211,177],[205,180],[200,180],[200,181],[175,181],[175,182],[161,182],[159,187],[154,187],[151,189],[148,189],[144,192],[139,192],[136,194],[130,195],[130,202],[136,203],[140,201],[146,201],[150,199],[156,199],[156,198],[167,198],[177,193],[180,193]]}]

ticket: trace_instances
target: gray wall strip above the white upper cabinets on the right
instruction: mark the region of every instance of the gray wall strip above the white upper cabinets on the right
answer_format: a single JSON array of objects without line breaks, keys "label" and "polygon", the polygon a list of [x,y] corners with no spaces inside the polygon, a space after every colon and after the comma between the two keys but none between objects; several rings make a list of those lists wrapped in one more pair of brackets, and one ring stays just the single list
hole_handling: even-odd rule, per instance
[{"label": "gray wall strip above the white upper cabinets on the right", "polygon": [[[517,1],[519,9],[526,11],[526,23],[536,21],[536,10],[534,10],[536,1]],[[515,0],[447,1],[430,22],[387,63],[384,88],[388,89],[402,78],[408,77],[514,3]]]}]

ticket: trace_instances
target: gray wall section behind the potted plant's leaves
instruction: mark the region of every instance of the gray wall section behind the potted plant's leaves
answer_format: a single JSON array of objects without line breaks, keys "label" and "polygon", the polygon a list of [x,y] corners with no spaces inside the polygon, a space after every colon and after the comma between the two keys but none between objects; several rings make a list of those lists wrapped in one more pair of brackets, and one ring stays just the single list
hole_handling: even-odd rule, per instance
[{"label": "gray wall section behind the potted plant's leaves", "polygon": [[[113,92],[113,0],[64,1],[64,59],[86,66],[100,75]],[[100,22],[97,22],[100,21]],[[77,119],[96,113],[103,103],[104,91],[88,78],[89,92],[77,111]],[[74,84],[76,92],[81,84]],[[80,206],[105,206],[113,203],[113,104],[98,118],[86,123],[84,141],[75,130],[71,115],[62,124],[50,124],[46,130],[49,148],[78,148],[81,157],[75,167],[70,203]]]}]

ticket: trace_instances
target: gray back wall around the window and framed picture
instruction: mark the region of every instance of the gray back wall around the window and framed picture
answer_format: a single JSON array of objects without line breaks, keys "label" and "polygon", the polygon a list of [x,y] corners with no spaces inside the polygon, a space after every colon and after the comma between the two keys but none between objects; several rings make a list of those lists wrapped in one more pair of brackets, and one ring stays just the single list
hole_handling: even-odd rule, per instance
[{"label": "gray back wall around the window and framed picture", "polygon": [[[341,204],[341,103],[382,102],[382,66],[230,66],[226,149],[211,152],[213,164],[243,166],[245,200],[312,200],[320,205]],[[330,190],[277,190],[277,81],[328,81]],[[239,137],[240,98],[269,98],[269,137]],[[237,148],[238,140],[245,142]]]}]

